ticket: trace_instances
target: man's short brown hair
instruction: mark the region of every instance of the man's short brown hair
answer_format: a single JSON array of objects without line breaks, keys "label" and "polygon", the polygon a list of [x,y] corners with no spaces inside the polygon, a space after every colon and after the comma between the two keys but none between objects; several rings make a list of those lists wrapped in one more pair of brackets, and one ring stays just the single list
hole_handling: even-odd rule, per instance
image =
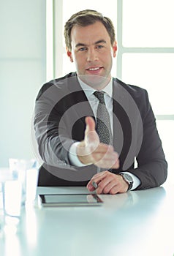
[{"label": "man's short brown hair", "polygon": [[111,45],[113,45],[113,42],[115,42],[116,40],[116,35],[115,35],[113,22],[110,20],[110,18],[104,17],[102,13],[94,10],[83,10],[72,15],[71,18],[67,20],[67,23],[65,23],[64,37],[65,37],[65,43],[68,50],[72,50],[72,45],[71,45],[72,27],[75,25],[88,26],[96,23],[97,21],[100,21],[105,26],[107,33],[110,36]]}]

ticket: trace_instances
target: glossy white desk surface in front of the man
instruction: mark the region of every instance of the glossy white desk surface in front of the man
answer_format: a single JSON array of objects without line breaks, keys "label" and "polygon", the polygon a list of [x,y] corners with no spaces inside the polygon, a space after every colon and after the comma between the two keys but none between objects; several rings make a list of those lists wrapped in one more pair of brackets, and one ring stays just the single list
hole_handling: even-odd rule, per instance
[{"label": "glossy white desk surface in front of the man", "polygon": [[[38,189],[44,192],[87,190]],[[173,256],[174,187],[101,197],[98,207],[23,208],[18,233],[0,238],[0,255]]]}]

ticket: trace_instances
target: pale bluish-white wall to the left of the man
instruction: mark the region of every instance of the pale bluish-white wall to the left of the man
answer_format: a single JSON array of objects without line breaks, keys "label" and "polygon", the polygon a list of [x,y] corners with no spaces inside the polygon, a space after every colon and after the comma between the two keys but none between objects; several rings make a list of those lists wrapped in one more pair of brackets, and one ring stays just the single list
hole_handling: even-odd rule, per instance
[{"label": "pale bluish-white wall to the left of the man", "polygon": [[31,116],[46,79],[45,0],[0,1],[0,167],[34,157]]}]

